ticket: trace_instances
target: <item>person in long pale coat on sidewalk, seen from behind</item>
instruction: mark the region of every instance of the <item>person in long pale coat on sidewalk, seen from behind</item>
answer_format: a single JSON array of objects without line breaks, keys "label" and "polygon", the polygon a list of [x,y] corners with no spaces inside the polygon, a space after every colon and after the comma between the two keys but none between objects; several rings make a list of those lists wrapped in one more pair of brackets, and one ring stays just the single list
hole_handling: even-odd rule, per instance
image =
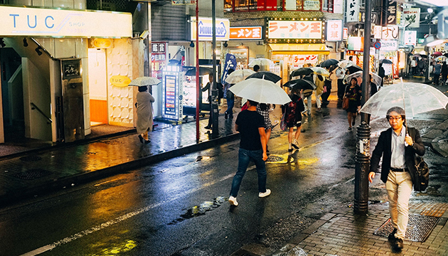
[{"label": "person in long pale coat on sidewalk, seen from behind", "polygon": [[137,102],[135,102],[135,107],[137,107],[137,134],[139,134],[140,142],[144,144],[151,142],[148,139],[148,132],[152,131],[152,102],[155,101],[147,90],[147,86],[139,86]]}]

